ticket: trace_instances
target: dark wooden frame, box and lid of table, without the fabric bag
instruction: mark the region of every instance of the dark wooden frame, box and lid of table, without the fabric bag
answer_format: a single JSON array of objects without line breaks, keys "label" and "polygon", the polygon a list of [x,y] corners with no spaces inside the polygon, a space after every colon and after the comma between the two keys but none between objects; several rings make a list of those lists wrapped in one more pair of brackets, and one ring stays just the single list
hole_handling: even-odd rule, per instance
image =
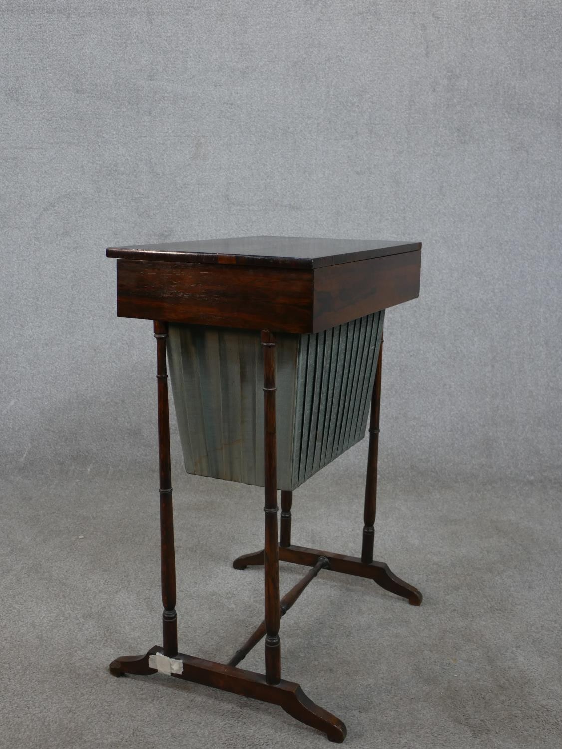
[{"label": "dark wooden frame, box and lid of table, without the fabric bag", "polygon": [[[265,241],[267,240],[267,241]],[[281,241],[282,240],[282,241]],[[197,245],[197,246],[195,246]],[[244,249],[245,248],[245,249]],[[382,348],[372,393],[370,446],[364,503],[361,558],[293,545],[293,492],[281,493],[278,540],[275,424],[275,332],[312,333],[385,309],[418,295],[419,243],[364,243],[352,240],[301,240],[295,237],[246,237],[209,243],[113,248],[117,260],[117,313],[154,321],[158,378],[159,497],[162,569],[163,646],[144,655],[126,655],[110,665],[114,676],[162,671],[281,706],[299,721],[342,742],[346,727],[314,703],[299,684],[281,679],[279,623],[323,568],[367,577],[382,588],[421,604],[414,586],[384,562],[373,561],[376,472],[379,434]],[[261,330],[264,419],[263,548],[238,557],[233,566],[264,566],[263,622],[229,664],[178,652],[174,521],[168,406],[166,338],[168,322],[214,324]],[[359,366],[361,369],[361,366]],[[352,375],[349,375],[352,376]],[[367,395],[365,395],[367,397]],[[283,407],[283,404],[278,404]],[[352,416],[348,418],[352,420]],[[279,560],[311,568],[279,598]],[[265,637],[265,673],[236,667]]]}]

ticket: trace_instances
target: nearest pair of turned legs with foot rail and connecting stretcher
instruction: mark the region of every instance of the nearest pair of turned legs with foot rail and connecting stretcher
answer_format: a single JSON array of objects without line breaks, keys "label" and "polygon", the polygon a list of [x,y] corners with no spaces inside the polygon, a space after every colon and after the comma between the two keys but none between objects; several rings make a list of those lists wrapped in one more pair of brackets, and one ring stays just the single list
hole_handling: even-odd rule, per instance
[{"label": "nearest pair of turned legs with foot rail and connecting stretcher", "polygon": [[[123,655],[112,661],[109,670],[114,676],[130,673],[147,676],[165,673],[178,679],[209,685],[217,689],[243,694],[255,700],[281,706],[290,715],[309,726],[317,728],[332,742],[343,742],[346,727],[339,718],[323,709],[308,697],[296,682],[281,679],[281,655],[279,645],[279,620],[281,605],[285,613],[294,601],[317,576],[320,569],[328,565],[322,558],[312,565],[302,580],[279,600],[279,549],[277,527],[277,477],[275,445],[275,339],[272,333],[263,331],[263,405],[264,405],[264,517],[265,541],[263,551],[258,552],[260,563],[265,568],[265,616],[245,646],[242,646],[233,662],[240,661],[266,635],[266,673],[242,670],[230,664],[206,661],[177,650],[176,575],[174,560],[174,524],[172,516],[170,431],[168,413],[168,375],[166,371],[165,342],[168,324],[154,323],[158,354],[158,434],[160,459],[160,530],[162,562],[162,603],[164,646],[153,646],[144,655]],[[251,555],[248,555],[251,556]],[[245,565],[241,565],[242,567]]]}]

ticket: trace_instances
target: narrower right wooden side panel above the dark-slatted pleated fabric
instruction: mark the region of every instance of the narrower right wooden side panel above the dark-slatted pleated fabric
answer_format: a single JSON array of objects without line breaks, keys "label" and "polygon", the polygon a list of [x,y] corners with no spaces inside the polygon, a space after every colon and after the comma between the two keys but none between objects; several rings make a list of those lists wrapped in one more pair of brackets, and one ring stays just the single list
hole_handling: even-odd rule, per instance
[{"label": "narrower right wooden side panel above the dark-slatted pleated fabric", "polygon": [[415,299],[421,250],[314,270],[314,331]]}]

